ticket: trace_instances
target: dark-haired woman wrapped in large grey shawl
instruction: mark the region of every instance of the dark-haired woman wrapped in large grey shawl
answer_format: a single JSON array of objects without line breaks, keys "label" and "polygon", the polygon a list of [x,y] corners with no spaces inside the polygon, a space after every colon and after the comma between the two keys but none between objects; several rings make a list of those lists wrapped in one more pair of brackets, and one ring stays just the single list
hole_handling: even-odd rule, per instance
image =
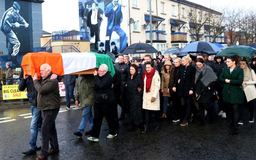
[{"label": "dark-haired woman wrapped in large grey shawl", "polygon": [[210,108],[212,102],[212,89],[218,77],[214,74],[211,67],[205,65],[205,60],[197,58],[195,60],[195,102],[199,106],[200,121],[198,126],[205,123],[205,110],[209,115],[210,123],[213,121],[213,110]]}]

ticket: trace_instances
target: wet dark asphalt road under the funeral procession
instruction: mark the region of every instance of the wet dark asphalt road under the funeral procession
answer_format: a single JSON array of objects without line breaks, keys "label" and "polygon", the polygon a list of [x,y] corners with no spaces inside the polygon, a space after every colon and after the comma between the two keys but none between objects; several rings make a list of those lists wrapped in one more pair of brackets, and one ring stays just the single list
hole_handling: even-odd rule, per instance
[{"label": "wet dark asphalt road under the funeral procession", "polygon": [[[65,106],[61,106],[64,108]],[[120,108],[119,108],[120,109]],[[99,142],[91,142],[87,136],[78,138],[73,134],[81,121],[82,110],[70,109],[58,114],[56,128],[59,153],[48,159],[256,159],[256,125],[248,123],[249,112],[246,109],[244,125],[239,126],[239,134],[228,135],[229,117],[217,117],[213,124],[197,126],[193,120],[188,126],[179,126],[167,118],[161,121],[160,130],[153,130],[156,123],[152,120],[151,131],[141,134],[140,129],[127,132],[127,121],[120,121],[117,137],[107,139],[109,134],[106,120]],[[120,112],[120,110],[119,110]],[[23,155],[21,151],[29,149],[30,121],[29,108],[0,111],[0,159],[35,159],[35,155]],[[27,114],[27,115],[22,115]],[[6,119],[2,119],[5,118]],[[8,118],[9,117],[9,118]],[[7,121],[15,119],[12,121]],[[7,122],[3,122],[7,121]],[[85,130],[89,130],[89,125]],[[39,140],[37,144],[41,145]]]}]

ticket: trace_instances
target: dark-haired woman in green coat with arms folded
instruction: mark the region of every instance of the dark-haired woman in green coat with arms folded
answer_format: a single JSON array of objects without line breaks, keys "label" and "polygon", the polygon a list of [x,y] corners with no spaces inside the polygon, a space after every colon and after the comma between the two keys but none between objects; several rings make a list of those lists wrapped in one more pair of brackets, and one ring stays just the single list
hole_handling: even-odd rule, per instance
[{"label": "dark-haired woman in green coat with arms folded", "polygon": [[238,134],[239,105],[243,104],[243,69],[237,66],[238,58],[238,55],[227,57],[227,67],[219,76],[219,81],[223,82],[223,101],[227,102],[231,109],[230,135]]}]

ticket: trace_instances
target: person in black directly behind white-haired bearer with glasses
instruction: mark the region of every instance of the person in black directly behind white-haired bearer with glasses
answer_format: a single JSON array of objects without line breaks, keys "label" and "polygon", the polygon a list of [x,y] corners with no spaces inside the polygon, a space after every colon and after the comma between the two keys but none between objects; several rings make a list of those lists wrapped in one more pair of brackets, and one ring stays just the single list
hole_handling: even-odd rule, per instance
[{"label": "person in black directly behind white-haired bearer with glasses", "polygon": [[118,98],[120,95],[120,85],[122,82],[122,77],[121,77],[121,72],[117,69],[115,69],[115,74],[113,76],[113,91],[114,91],[114,95],[115,95],[115,104],[114,104],[114,108],[113,108],[113,114],[115,117],[115,125],[118,128],[119,127],[119,121],[118,121],[118,113],[117,113],[117,106],[118,106]]}]

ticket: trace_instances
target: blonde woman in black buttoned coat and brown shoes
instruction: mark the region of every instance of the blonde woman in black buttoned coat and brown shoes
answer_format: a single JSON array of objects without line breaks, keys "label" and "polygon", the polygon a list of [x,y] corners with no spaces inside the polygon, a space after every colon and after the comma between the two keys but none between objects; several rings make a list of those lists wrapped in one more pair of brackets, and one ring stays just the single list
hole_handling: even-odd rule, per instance
[{"label": "blonde woman in black buttoned coat and brown shoes", "polygon": [[[177,91],[177,95],[181,99],[182,112],[185,114],[181,126],[188,125],[188,122],[192,122],[193,113],[191,113],[191,106],[193,103],[193,93],[195,85],[195,67],[191,65],[192,59],[189,54],[182,57],[182,65],[180,67],[178,77],[176,77],[173,91]],[[179,84],[178,90],[176,86]]]}]

